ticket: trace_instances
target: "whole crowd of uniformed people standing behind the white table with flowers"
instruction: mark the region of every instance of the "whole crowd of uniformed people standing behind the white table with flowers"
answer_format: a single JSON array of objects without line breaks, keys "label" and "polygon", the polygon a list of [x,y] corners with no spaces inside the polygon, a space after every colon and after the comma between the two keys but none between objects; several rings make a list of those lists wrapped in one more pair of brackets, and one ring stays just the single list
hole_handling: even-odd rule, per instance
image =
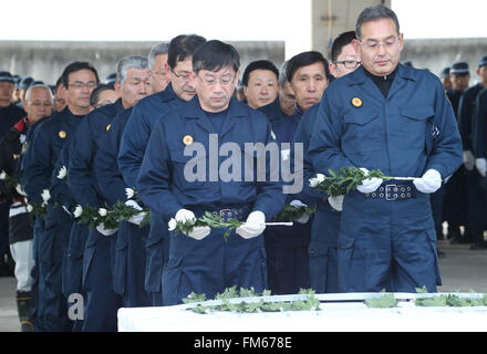
[{"label": "whole crowd of uniformed people standing behind the white table with flowers", "polygon": [[[182,34],[121,59],[104,83],[86,62],[52,87],[0,72],[2,254],[12,258],[1,266],[14,264],[22,331],[116,331],[122,306],[234,285],[436,291],[443,221],[452,242],[485,248],[487,56],[475,86],[465,63],[442,73],[442,86],[400,62],[403,44],[395,13],[377,6],[334,39],[329,60],[259,59],[240,74],[232,45]],[[280,146],[277,165],[263,153],[263,178],[248,168],[262,160],[248,143]],[[299,192],[271,176],[288,160]],[[349,166],[364,178],[346,195],[308,183]],[[203,178],[188,178],[195,168]],[[116,205],[137,212],[116,227],[80,222],[83,210]],[[267,226],[288,206],[312,212]],[[228,238],[207,225],[169,227],[208,211],[240,223]]]}]

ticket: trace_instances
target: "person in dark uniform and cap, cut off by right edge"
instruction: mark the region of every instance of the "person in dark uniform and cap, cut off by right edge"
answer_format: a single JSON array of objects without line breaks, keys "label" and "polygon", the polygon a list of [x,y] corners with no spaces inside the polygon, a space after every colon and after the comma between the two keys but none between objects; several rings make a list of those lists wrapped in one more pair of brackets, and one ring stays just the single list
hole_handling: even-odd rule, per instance
[{"label": "person in dark uniform and cap, cut off by right edge", "polygon": [[[467,235],[464,235],[457,242],[473,242],[473,250],[483,249],[484,230],[487,229],[486,212],[487,204],[479,185],[478,170],[475,168],[475,156],[473,154],[472,138],[474,135],[474,111],[478,93],[487,87],[487,55],[484,55],[477,69],[480,81],[474,86],[465,90],[458,105],[458,128],[462,135],[464,147],[464,173],[466,189],[468,191],[468,216]],[[452,241],[453,242],[453,241]]]}]

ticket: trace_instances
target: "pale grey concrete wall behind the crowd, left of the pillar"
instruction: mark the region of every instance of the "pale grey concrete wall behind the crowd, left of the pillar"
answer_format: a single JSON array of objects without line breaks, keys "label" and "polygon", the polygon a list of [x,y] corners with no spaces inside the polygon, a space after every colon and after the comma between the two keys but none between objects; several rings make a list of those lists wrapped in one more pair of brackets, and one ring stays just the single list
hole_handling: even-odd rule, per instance
[{"label": "pale grey concrete wall behind the crowd, left of the pillar", "polygon": [[[64,67],[73,61],[87,61],[99,71],[101,80],[115,72],[120,59],[129,54],[147,55],[157,42],[34,42],[0,41],[0,71],[33,76],[54,84]],[[240,70],[257,59],[282,64],[283,41],[230,42],[240,54]]]}]

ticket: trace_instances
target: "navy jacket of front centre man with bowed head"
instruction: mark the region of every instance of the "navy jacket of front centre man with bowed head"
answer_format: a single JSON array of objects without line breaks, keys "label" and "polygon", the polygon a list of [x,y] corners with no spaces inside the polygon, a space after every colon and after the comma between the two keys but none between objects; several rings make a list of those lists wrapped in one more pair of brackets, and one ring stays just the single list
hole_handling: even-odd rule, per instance
[{"label": "navy jacket of front centre man with bowed head", "polygon": [[[213,123],[201,110],[197,97],[172,110],[157,122],[137,180],[137,190],[144,202],[166,220],[182,208],[215,210],[218,206],[249,204],[253,205],[253,210],[262,211],[267,220],[272,220],[284,204],[282,185],[270,180],[270,168],[266,169],[266,181],[245,181],[244,177],[246,157],[250,157],[253,166],[257,166],[255,155],[245,156],[245,143],[274,143],[267,117],[235,98],[230,101],[225,125],[219,134],[219,145],[236,143],[244,153],[240,153],[244,160],[240,177],[242,181],[209,181],[208,175],[215,174],[208,171],[208,160],[215,158],[209,150],[211,133]],[[205,147],[206,154],[200,157],[200,162],[206,164],[205,181],[188,181],[185,178],[185,165],[193,159],[191,156],[184,155],[184,139],[187,137],[193,139],[193,144],[199,143]],[[224,158],[216,158],[218,166],[221,166]],[[269,167],[269,156],[266,156],[266,164]]]}]

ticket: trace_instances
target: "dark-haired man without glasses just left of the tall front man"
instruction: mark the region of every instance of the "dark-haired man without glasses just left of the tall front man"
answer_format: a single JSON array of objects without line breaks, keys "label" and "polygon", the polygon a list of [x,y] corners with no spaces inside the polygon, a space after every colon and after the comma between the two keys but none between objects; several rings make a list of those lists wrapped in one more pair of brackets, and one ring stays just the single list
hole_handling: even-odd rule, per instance
[{"label": "dark-haired man without glasses just left of the tall front man", "polygon": [[[319,52],[299,53],[288,61],[287,77],[297,104],[291,116],[281,118],[272,127],[280,144],[293,140],[303,113],[320,102],[330,77],[328,61]],[[290,150],[282,149],[281,154],[287,160]],[[287,199],[294,207],[308,206],[296,195],[288,195]],[[266,230],[269,289],[273,293],[297,293],[301,288],[310,288],[308,247],[312,221],[312,217],[302,217],[292,227],[276,226]]]}]

